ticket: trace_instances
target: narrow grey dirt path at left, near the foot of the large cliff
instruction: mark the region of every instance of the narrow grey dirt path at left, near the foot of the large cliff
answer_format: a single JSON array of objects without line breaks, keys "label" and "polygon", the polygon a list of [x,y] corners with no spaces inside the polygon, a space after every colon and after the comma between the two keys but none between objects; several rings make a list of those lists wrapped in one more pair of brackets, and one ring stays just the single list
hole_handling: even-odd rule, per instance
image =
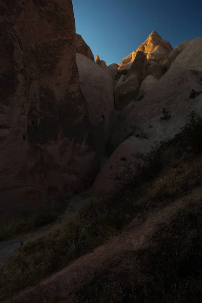
[{"label": "narrow grey dirt path at left, near the foot of the large cliff", "polygon": [[[86,203],[86,200],[84,197],[76,195],[74,196],[68,203],[66,211],[58,217],[58,219],[55,222],[61,222],[61,221],[68,221],[68,218],[70,218],[68,215],[71,213],[78,212]],[[19,248],[21,243],[23,242],[23,245],[26,244],[29,240],[33,240],[33,238],[36,238],[45,231],[47,231],[49,228],[53,226],[53,224],[46,224],[43,227],[35,229],[33,232],[18,235],[14,239],[5,240],[0,242],[0,263],[5,262],[14,252],[15,249]]]}]

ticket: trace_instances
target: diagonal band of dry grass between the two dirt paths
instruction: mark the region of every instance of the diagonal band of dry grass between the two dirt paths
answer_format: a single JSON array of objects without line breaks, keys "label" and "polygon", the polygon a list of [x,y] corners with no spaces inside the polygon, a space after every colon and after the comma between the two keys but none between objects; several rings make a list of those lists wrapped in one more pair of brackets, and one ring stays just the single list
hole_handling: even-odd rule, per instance
[{"label": "diagonal band of dry grass between the two dirt paths", "polygon": [[[115,235],[135,216],[155,210],[201,183],[202,159],[168,169],[157,180],[136,189],[126,187],[107,199],[89,198],[87,205],[67,223],[56,224],[43,236],[16,250],[2,266],[0,298],[10,296],[58,271]],[[196,174],[195,174],[196,173]],[[195,178],[195,179],[194,179]],[[165,198],[166,197],[166,198]]]}]

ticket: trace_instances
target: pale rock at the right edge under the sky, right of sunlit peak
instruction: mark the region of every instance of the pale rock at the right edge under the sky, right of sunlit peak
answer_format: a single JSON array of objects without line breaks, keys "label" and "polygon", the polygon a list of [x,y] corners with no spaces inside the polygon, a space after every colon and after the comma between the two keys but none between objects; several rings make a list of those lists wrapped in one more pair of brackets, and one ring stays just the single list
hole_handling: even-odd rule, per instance
[{"label": "pale rock at the right edge under the sky, right of sunlit peak", "polygon": [[183,51],[177,56],[170,69],[183,67],[187,70],[202,72],[202,38],[196,37],[187,44]]}]

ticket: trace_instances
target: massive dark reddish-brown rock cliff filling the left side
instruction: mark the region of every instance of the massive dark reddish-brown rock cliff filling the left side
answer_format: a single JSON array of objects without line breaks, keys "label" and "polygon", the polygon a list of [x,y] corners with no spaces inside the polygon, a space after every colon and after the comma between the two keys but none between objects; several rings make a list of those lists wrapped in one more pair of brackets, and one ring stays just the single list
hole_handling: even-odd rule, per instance
[{"label": "massive dark reddish-brown rock cliff filling the left side", "polygon": [[6,216],[89,185],[97,163],[71,0],[3,1],[0,39],[0,216]]}]

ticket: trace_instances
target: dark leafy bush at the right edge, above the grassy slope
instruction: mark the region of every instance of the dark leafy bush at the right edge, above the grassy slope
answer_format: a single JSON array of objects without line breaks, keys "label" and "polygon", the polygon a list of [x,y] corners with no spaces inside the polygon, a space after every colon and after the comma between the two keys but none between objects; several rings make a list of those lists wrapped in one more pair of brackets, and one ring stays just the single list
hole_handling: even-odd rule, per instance
[{"label": "dark leafy bush at the right edge, above the grassy slope", "polygon": [[176,135],[182,154],[202,154],[202,114],[192,111],[186,117],[186,123],[181,132]]}]

